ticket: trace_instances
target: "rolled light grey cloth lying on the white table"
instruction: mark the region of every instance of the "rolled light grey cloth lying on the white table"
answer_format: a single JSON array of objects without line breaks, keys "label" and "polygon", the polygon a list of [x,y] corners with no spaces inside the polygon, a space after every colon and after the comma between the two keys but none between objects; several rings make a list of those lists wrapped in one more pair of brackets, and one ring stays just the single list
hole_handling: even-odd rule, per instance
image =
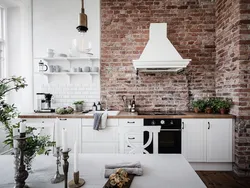
[{"label": "rolled light grey cloth lying on the white table", "polygon": [[104,177],[108,178],[111,174],[115,173],[118,168],[123,168],[127,171],[128,174],[134,174],[137,176],[143,175],[143,170],[141,167],[141,163],[138,162],[124,162],[124,163],[116,163],[116,164],[106,164]]}]

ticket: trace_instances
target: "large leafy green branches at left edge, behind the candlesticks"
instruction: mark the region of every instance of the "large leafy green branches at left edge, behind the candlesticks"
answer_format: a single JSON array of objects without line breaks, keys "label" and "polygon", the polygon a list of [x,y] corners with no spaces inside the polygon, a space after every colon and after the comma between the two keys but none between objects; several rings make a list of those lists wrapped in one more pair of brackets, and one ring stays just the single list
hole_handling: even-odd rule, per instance
[{"label": "large leafy green branches at left edge, behind the candlesticks", "polygon": [[[13,148],[13,128],[20,127],[20,121],[13,123],[11,120],[17,118],[19,112],[14,104],[8,104],[4,100],[5,95],[12,91],[18,91],[21,88],[27,86],[25,79],[22,77],[11,77],[3,78],[0,80],[0,123],[4,126],[6,132],[6,140],[4,144],[9,145],[10,148]],[[34,127],[27,127],[27,134],[30,134],[30,137],[26,140],[26,146],[24,148],[24,162],[27,166],[27,169],[31,167],[31,161],[36,156],[36,154],[48,154],[49,150],[46,147],[53,146],[55,143],[49,141],[49,136],[39,136],[34,135]]]}]

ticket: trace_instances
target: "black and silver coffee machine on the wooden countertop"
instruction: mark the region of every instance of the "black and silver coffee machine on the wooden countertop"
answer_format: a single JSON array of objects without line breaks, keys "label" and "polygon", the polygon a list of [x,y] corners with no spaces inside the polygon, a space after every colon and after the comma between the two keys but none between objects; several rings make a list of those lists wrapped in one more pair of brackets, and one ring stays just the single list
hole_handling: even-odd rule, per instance
[{"label": "black and silver coffee machine on the wooden countertop", "polygon": [[42,112],[55,112],[55,109],[51,108],[51,93],[37,93],[37,109],[35,112],[42,113]]}]

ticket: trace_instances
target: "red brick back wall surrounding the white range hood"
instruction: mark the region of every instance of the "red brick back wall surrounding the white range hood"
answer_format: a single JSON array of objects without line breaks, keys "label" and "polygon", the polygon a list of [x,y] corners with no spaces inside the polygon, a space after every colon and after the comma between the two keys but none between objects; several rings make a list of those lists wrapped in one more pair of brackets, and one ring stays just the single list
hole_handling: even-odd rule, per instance
[{"label": "red brick back wall surrounding the white range hood", "polygon": [[[136,73],[149,24],[168,23],[168,38],[183,58],[180,74]],[[101,95],[123,109],[122,95],[136,97],[137,110],[187,110],[190,98],[215,95],[215,8],[210,0],[102,0]]]}]

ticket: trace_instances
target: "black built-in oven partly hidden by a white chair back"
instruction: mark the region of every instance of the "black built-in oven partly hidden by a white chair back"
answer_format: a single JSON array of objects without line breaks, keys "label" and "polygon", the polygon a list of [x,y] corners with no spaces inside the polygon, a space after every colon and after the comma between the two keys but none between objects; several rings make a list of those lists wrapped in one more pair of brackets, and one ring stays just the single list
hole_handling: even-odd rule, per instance
[{"label": "black built-in oven partly hidden by a white chair back", "polygon": [[[144,126],[161,126],[158,136],[158,153],[181,153],[181,119],[144,119]],[[149,133],[144,132],[144,144]],[[146,148],[153,153],[153,141]]]}]

